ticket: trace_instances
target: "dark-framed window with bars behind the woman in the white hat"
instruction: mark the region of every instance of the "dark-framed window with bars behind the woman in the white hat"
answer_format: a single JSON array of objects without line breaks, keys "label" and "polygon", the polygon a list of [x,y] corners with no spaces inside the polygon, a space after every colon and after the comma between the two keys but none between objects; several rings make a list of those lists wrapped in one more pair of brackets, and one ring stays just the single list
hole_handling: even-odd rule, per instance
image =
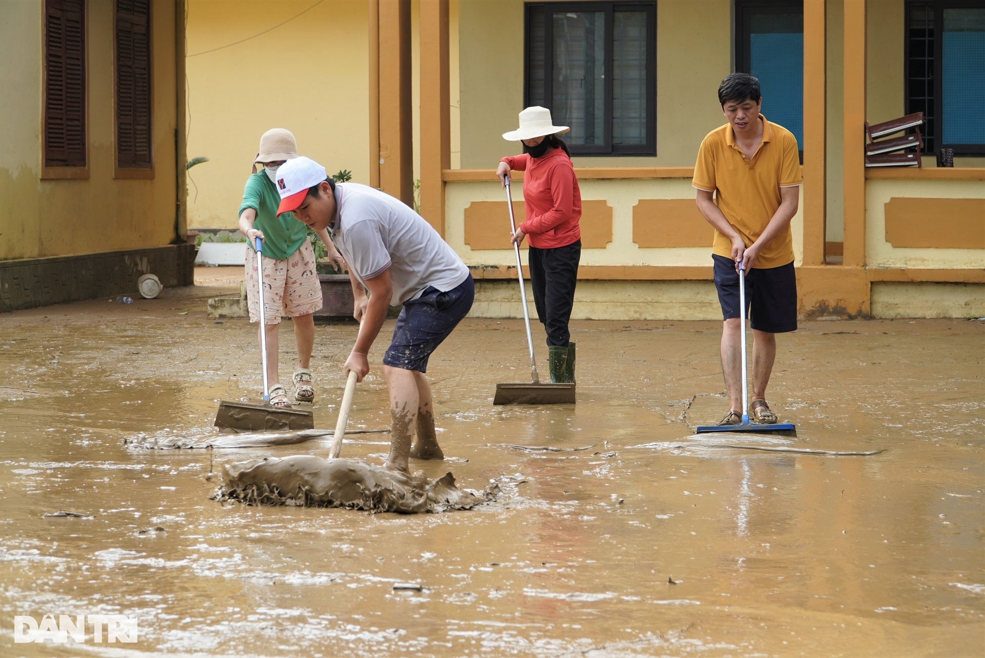
[{"label": "dark-framed window with bars behind the woman in the white hat", "polygon": [[572,155],[656,155],[653,2],[526,5],[526,106],[551,110]]}]

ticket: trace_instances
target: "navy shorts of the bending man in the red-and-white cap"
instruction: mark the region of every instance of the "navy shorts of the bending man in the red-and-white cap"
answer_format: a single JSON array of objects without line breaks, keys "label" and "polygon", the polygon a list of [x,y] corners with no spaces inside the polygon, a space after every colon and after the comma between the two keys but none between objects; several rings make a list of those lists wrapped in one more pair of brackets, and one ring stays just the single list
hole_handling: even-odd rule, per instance
[{"label": "navy shorts of the bending man in the red-and-white cap", "polygon": [[470,274],[446,293],[428,286],[418,298],[405,301],[383,364],[427,372],[427,359],[468,314],[475,296]]}]

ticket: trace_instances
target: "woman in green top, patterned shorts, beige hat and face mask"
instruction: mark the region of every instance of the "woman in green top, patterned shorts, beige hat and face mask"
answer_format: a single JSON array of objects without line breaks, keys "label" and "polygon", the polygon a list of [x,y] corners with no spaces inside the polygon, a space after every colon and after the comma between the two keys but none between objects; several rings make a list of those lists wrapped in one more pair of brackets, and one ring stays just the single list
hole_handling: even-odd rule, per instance
[{"label": "woman in green top, patterned shorts, beige hat and face mask", "polygon": [[[290,130],[273,128],[260,138],[260,151],[253,160],[253,175],[246,179],[243,200],[239,204],[239,230],[247,237],[246,299],[250,322],[260,321],[259,289],[257,284],[257,237],[263,241],[264,328],[267,338],[267,378],[270,382],[270,402],[275,407],[290,407],[287,390],[280,383],[278,372],[278,327],[281,315],[294,320],[298,368],[294,373],[295,398],[298,402],[314,400],[311,370],[311,350],[314,347],[314,311],[321,308],[321,284],[315,271],[314,250],[307,231],[289,213],[278,216],[281,197],[274,185],[280,165],[297,157],[295,136]],[[257,172],[256,165],[263,166]],[[318,236],[328,247],[328,257],[337,267],[343,265],[328,234]],[[257,334],[259,340],[259,333]]]}]

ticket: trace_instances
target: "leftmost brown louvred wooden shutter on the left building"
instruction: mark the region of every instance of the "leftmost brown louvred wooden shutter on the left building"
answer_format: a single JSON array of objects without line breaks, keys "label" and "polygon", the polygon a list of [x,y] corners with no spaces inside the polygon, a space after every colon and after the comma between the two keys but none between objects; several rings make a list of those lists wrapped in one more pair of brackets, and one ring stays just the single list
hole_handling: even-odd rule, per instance
[{"label": "leftmost brown louvred wooden shutter on the left building", "polygon": [[86,166],[85,0],[45,0],[44,165]]}]

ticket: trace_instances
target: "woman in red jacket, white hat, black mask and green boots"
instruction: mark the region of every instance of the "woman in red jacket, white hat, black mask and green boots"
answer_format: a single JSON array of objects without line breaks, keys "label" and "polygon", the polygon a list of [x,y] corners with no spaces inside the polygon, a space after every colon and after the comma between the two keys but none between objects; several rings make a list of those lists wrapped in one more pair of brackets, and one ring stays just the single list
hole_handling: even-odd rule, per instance
[{"label": "woman in red jacket, white hat, black mask and green boots", "polygon": [[537,317],[548,333],[551,381],[574,381],[574,343],[567,323],[574,304],[574,285],[581,258],[581,191],[567,145],[558,134],[551,110],[527,107],[520,112],[520,127],[503,139],[523,142],[523,155],[503,158],[496,175],[505,185],[510,170],[525,171],[523,200],[526,221],[513,233],[521,244],[530,236],[530,284],[534,289]]}]

